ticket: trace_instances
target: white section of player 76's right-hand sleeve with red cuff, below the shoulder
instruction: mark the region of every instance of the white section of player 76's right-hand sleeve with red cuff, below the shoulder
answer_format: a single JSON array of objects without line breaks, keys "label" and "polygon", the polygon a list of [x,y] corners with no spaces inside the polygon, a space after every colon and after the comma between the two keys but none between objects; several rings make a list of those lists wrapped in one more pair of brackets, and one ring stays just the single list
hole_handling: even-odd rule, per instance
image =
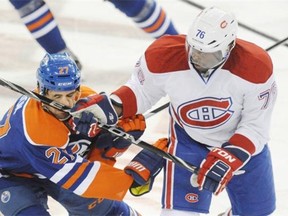
[{"label": "white section of player 76's right-hand sleeve with red cuff, below the shoulder", "polygon": [[229,142],[259,153],[269,141],[269,129],[273,107],[277,98],[277,86],[272,75],[265,83],[251,84],[244,95],[241,120]]}]

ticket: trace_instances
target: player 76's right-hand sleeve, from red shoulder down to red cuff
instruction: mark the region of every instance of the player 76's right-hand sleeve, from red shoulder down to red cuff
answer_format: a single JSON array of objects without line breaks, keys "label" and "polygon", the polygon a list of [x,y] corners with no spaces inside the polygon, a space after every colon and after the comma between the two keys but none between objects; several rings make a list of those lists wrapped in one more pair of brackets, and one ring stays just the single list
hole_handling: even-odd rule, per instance
[{"label": "player 76's right-hand sleeve, from red shoulder down to red cuff", "polygon": [[229,142],[257,154],[269,141],[270,121],[277,98],[272,60],[261,47],[237,39],[224,68],[240,78],[238,84],[243,90],[241,119]]}]

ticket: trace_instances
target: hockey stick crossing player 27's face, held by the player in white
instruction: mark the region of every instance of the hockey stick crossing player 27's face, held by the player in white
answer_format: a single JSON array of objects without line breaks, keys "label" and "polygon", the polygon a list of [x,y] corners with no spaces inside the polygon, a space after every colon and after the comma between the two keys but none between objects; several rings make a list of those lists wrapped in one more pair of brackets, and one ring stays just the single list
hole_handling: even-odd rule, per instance
[{"label": "hockey stick crossing player 27's face, held by the player in white", "polygon": [[[43,95],[40,95],[40,94],[38,94],[36,92],[32,92],[30,90],[27,90],[27,89],[15,84],[15,83],[12,83],[10,81],[7,81],[5,79],[0,78],[0,85],[5,87],[5,88],[9,88],[12,91],[18,92],[18,93],[20,93],[22,95],[25,95],[27,97],[33,98],[34,100],[42,102],[42,103],[44,103],[46,105],[54,107],[54,108],[56,108],[58,110],[70,113],[70,108],[69,107],[67,107],[67,106],[65,106],[65,105],[63,105],[61,103],[57,103],[56,101],[53,101],[53,100],[51,100],[51,99],[49,99],[49,98],[47,98],[47,97],[45,97]],[[168,104],[165,104],[165,106],[168,106]],[[164,105],[159,107],[159,108],[161,108],[161,110],[162,110],[162,109],[164,109],[163,107],[164,107]],[[156,110],[158,110],[158,108]],[[153,145],[150,145],[150,144],[148,144],[148,143],[146,143],[146,142],[144,142],[144,141],[142,141],[140,139],[136,140],[132,135],[117,129],[116,127],[113,127],[113,126],[110,126],[110,125],[105,125],[105,124],[103,124],[101,122],[98,122],[98,127],[103,129],[103,130],[106,130],[106,131],[108,131],[108,132],[110,132],[110,133],[112,133],[112,134],[114,134],[114,135],[116,135],[116,136],[118,136],[120,138],[126,139],[126,140],[130,141],[131,143],[140,146],[143,149],[147,149],[148,151],[154,152],[155,154],[157,154],[157,155],[159,155],[159,156],[161,156],[161,157],[163,157],[165,159],[168,159],[168,160],[174,162],[175,164],[185,168],[186,170],[188,170],[188,171],[190,171],[192,173],[197,173],[198,172],[198,168],[196,166],[194,166],[192,164],[189,164],[186,161],[182,160],[181,158],[179,158],[177,156],[174,156],[174,155],[171,155],[168,152],[165,152],[165,151],[163,151],[161,149],[158,149],[158,148],[154,147]]]}]

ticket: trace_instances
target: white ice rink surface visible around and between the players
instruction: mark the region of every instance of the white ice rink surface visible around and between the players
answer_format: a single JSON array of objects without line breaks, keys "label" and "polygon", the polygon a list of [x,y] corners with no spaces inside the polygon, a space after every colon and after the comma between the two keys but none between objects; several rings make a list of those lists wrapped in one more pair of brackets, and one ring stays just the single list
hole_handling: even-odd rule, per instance
[{"label": "white ice rink surface visible around and between the players", "polygon": [[[173,19],[180,33],[186,33],[189,24],[199,9],[181,0],[159,0]],[[196,2],[196,1],[195,1]],[[134,23],[117,11],[113,5],[96,0],[47,0],[61,25],[68,46],[79,56],[84,65],[84,83],[97,91],[110,92],[123,84],[133,65],[152,39],[139,30]],[[219,6],[233,11],[238,20],[278,39],[288,36],[288,1],[286,0],[214,0],[197,1],[203,6]],[[8,1],[0,1],[0,77],[11,80],[25,88],[35,87],[35,71],[44,51],[38,46],[22,25],[17,12]],[[275,42],[244,28],[239,28],[239,37],[268,48]],[[271,125],[269,143],[274,166],[277,193],[277,210],[273,215],[288,215],[288,48],[278,46],[271,50],[274,71],[278,81],[278,101]],[[0,114],[13,104],[19,94],[1,88]],[[161,112],[148,119],[148,131],[143,140],[153,142],[166,136],[167,113]],[[139,151],[132,146],[117,163],[124,167]],[[156,179],[153,191],[142,197],[129,193],[125,201],[138,209],[143,216],[159,215],[161,197],[161,174]],[[52,215],[68,215],[55,201],[50,200]],[[217,215],[229,207],[226,193],[213,198],[210,215]]]}]

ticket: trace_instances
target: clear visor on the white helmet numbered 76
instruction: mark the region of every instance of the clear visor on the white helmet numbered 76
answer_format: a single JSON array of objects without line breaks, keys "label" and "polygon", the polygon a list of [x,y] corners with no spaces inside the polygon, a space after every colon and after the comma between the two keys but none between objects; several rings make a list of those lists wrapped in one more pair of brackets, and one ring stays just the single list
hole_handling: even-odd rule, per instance
[{"label": "clear visor on the white helmet numbered 76", "polygon": [[201,67],[203,69],[211,69],[218,66],[225,60],[227,56],[227,52],[222,53],[221,50],[211,53],[205,53],[196,50],[190,45],[188,45],[188,54],[190,62],[197,67]]}]

